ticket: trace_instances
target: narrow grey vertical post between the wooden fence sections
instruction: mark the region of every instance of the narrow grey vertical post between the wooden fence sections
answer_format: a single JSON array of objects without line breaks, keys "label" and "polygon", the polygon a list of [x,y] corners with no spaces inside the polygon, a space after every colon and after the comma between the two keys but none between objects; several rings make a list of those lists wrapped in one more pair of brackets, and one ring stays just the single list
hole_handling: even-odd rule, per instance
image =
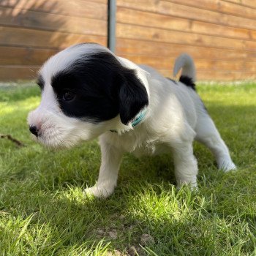
[{"label": "narrow grey vertical post between the wooden fence sections", "polygon": [[116,51],[116,0],[108,0],[108,48]]}]

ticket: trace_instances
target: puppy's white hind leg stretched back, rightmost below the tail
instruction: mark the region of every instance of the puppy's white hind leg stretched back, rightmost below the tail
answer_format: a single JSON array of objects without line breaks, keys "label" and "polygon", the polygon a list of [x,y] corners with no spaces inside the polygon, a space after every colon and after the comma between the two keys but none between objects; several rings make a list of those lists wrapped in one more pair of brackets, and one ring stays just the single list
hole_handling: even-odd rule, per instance
[{"label": "puppy's white hind leg stretched back, rightmost below the tail", "polygon": [[208,113],[201,113],[197,119],[197,133],[195,140],[207,146],[217,160],[219,169],[228,171],[235,170],[236,165],[233,163],[225,142],[219,135],[214,121],[208,116]]}]

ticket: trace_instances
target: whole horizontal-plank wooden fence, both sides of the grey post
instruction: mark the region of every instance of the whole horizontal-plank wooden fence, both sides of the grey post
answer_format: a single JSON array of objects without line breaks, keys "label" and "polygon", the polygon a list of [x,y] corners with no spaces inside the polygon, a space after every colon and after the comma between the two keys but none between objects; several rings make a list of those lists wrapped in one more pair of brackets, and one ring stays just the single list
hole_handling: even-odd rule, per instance
[{"label": "whole horizontal-plank wooden fence, both sides of the grey post", "polygon": [[[256,1],[116,0],[116,53],[172,75],[187,52],[199,80],[256,75]],[[0,0],[0,80],[33,78],[77,42],[107,44],[107,0]]]}]

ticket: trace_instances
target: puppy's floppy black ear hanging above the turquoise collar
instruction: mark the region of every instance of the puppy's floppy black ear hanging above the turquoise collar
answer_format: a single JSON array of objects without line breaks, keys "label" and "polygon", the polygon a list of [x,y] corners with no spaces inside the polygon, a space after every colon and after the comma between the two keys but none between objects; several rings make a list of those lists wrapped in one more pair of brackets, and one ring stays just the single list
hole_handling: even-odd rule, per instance
[{"label": "puppy's floppy black ear hanging above the turquoise collar", "polygon": [[148,94],[145,86],[135,75],[133,70],[129,70],[124,75],[119,91],[119,113],[121,122],[128,124],[141,109],[148,105]]}]

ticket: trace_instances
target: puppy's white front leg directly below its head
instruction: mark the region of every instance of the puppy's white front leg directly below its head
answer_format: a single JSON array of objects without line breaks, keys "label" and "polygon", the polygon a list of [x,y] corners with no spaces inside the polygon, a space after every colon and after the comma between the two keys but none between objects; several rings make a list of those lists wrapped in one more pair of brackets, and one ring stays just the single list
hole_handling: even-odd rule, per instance
[{"label": "puppy's white front leg directly below its head", "polygon": [[123,152],[104,141],[100,141],[102,162],[99,169],[99,178],[94,187],[85,189],[86,195],[108,197],[116,187],[118,170]]}]

